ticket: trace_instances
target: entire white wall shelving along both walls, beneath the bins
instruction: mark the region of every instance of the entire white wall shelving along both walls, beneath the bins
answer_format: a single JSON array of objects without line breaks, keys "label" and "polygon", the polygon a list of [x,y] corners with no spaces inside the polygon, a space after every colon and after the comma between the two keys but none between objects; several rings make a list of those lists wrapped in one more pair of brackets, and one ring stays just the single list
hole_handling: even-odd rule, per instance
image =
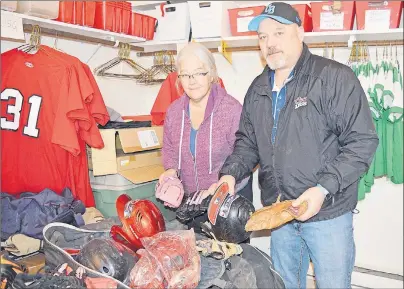
[{"label": "entire white wall shelving along both walls, beneath the bins", "polygon": [[[130,36],[111,31],[104,31],[90,27],[83,27],[74,24],[63,23],[55,20],[44,19],[9,11],[1,11],[1,16],[22,19],[24,31],[29,32],[28,26],[39,25],[43,35],[57,36],[60,38],[73,39],[76,41],[88,41],[113,46],[117,41],[132,44],[132,49],[145,52],[160,50],[177,50],[181,45],[187,43],[181,41],[146,41],[144,38]],[[19,21],[19,20],[18,20]],[[390,29],[387,31],[327,31],[305,33],[305,43],[352,43],[352,41],[392,41],[403,39],[403,28]],[[230,36],[223,38],[195,39],[211,49],[217,49],[221,40],[224,40],[228,47],[257,47],[257,36]]]}]

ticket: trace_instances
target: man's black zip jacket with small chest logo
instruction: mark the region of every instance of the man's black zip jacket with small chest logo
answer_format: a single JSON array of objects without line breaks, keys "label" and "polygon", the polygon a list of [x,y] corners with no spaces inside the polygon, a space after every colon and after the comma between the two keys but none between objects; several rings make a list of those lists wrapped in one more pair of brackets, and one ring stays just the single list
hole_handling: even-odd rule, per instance
[{"label": "man's black zip jacket with small chest logo", "polygon": [[234,152],[220,176],[239,182],[259,164],[264,206],[295,199],[317,184],[329,191],[310,219],[335,218],[358,202],[358,179],[368,169],[379,143],[369,105],[353,71],[310,53],[304,44],[286,104],[279,115],[275,143],[270,69],[255,78],[246,94]]}]

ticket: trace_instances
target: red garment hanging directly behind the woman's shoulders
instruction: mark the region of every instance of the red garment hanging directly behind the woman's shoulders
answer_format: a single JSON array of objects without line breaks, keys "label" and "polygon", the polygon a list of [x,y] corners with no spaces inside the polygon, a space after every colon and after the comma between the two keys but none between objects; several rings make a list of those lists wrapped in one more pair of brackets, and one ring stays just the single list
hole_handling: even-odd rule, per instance
[{"label": "red garment hanging directly behind the woman's shoulders", "polygon": [[[170,73],[166,80],[162,83],[160,91],[154,101],[151,116],[153,125],[163,125],[164,119],[166,117],[166,111],[171,103],[180,98],[184,94],[184,89],[179,87],[180,92],[178,92],[175,85],[178,78],[177,72]],[[224,87],[224,83],[221,78],[219,78],[219,84]]]}]

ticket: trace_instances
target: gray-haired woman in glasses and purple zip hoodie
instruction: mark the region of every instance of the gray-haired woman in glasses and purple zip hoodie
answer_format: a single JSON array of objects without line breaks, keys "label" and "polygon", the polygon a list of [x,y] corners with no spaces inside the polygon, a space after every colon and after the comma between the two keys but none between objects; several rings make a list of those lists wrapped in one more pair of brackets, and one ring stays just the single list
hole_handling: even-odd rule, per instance
[{"label": "gray-haired woman in glasses and purple zip hoodie", "polygon": [[[166,177],[178,176],[185,196],[204,191],[200,203],[214,193],[218,172],[233,151],[242,105],[218,84],[215,60],[199,43],[190,43],[177,56],[177,88],[184,94],[167,110],[164,121],[163,163]],[[247,184],[248,183],[248,184]],[[252,177],[239,193],[252,201]],[[206,214],[188,224],[199,231]]]}]

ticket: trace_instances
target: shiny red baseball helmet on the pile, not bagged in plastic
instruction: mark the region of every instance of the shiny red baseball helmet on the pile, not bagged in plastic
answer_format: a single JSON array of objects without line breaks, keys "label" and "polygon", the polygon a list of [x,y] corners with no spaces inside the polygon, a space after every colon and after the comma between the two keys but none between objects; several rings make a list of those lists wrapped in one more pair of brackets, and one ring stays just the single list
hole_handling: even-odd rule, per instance
[{"label": "shiny red baseball helmet on the pile, not bagged in plastic", "polygon": [[149,200],[132,200],[128,195],[120,195],[116,200],[116,210],[122,227],[112,226],[111,237],[133,251],[143,248],[143,237],[165,231],[165,222],[159,208]]}]

